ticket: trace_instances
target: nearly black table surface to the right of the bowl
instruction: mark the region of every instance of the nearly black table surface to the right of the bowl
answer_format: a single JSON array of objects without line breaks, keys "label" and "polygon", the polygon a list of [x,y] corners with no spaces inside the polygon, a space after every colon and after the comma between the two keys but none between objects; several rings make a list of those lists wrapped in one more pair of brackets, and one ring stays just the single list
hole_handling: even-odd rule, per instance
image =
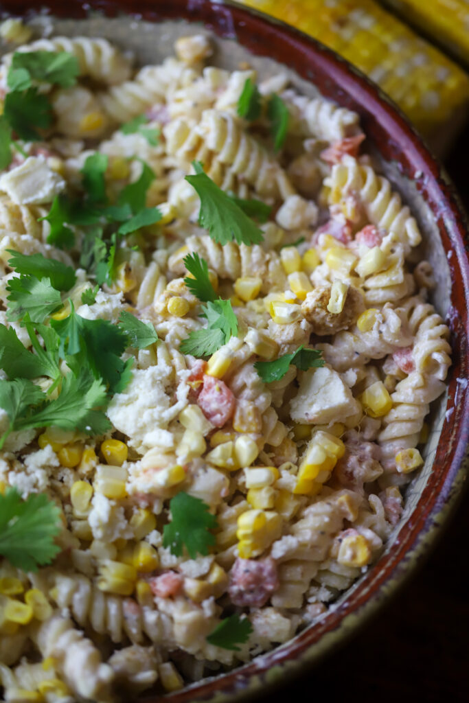
[{"label": "nearly black table surface to the right of the bowl", "polygon": [[[469,211],[469,127],[446,168]],[[469,702],[469,491],[441,541],[352,640],[265,700],[364,703]]]}]

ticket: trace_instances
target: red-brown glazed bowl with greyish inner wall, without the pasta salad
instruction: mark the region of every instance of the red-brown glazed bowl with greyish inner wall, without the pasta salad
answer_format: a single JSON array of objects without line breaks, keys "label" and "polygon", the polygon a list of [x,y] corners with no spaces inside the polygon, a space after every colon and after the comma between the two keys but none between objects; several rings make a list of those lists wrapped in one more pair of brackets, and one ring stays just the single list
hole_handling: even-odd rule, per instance
[{"label": "red-brown glazed bowl with greyish inner wall, without the pasta salad", "polygon": [[[266,692],[274,683],[319,662],[390,598],[428,554],[461,496],[469,439],[469,263],[463,213],[446,174],[394,105],[345,60],[281,22],[235,4],[207,0],[91,0],[87,4],[6,0],[2,7],[26,16],[46,8],[58,18],[58,32],[101,34],[133,49],[141,62],[160,60],[171,53],[176,37],[205,27],[217,44],[215,64],[235,67],[239,60],[249,60],[261,74],[276,70],[278,64],[288,67],[302,91],[311,93],[308,84],[314,83],[324,96],[359,112],[368,152],[401,191],[425,232],[423,254],[437,272],[434,302],[451,327],[454,361],[448,393],[432,411],[425,466],[409,485],[404,516],[385,553],[319,624],[250,664],[195,683],[170,699],[174,703],[233,701]],[[155,700],[146,697],[148,703]]]}]

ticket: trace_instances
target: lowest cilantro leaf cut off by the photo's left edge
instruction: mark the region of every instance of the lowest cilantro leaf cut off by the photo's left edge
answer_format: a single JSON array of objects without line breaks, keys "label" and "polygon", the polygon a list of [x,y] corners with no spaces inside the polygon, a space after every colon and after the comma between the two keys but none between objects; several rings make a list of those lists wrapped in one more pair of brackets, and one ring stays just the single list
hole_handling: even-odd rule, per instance
[{"label": "lowest cilantro leaf cut off by the photo's left edge", "polygon": [[60,509],[46,494],[23,501],[17,489],[8,488],[0,495],[0,554],[14,567],[28,572],[50,564],[60,552],[53,540],[61,528]]}]

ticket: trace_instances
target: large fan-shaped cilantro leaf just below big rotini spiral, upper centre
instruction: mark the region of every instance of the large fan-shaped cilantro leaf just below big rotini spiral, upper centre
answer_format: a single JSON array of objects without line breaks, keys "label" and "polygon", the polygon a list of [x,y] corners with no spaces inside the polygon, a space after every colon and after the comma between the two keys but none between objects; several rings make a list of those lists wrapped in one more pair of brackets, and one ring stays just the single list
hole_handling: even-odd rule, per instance
[{"label": "large fan-shaped cilantro leaf just below big rotini spiral, upper centre", "polygon": [[264,240],[262,231],[243,210],[203,172],[200,162],[193,162],[195,176],[186,176],[186,181],[200,198],[199,224],[207,228],[210,236],[219,244],[235,240],[238,244],[259,244]]}]

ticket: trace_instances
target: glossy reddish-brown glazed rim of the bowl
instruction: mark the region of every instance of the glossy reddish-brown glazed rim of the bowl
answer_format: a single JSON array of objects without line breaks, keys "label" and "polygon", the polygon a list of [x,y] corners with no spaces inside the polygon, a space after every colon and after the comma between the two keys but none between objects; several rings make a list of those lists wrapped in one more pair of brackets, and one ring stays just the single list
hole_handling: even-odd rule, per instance
[{"label": "glossy reddish-brown glazed rim of the bowl", "polygon": [[[316,664],[356,633],[416,572],[441,534],[463,494],[469,473],[469,257],[468,226],[458,196],[446,172],[432,156],[417,131],[390,98],[359,70],[316,39],[280,20],[240,6],[231,0],[4,0],[2,10],[27,18],[43,9],[58,18],[86,18],[90,11],[105,16],[130,15],[150,22],[186,20],[203,24],[225,39],[236,39],[257,56],[274,58],[313,83],[321,94],[359,113],[367,138],[387,161],[416,183],[437,221],[439,235],[449,252],[451,295],[449,327],[454,350],[449,373],[446,414],[433,470],[409,520],[390,551],[370,569],[364,581],[340,607],[328,612],[314,628],[307,628],[285,645],[262,654],[224,675],[205,678],[184,690],[165,696],[173,703],[195,700],[239,700],[266,692],[300,669]],[[262,690],[262,691],[261,691]],[[144,697],[147,703],[160,697]]]}]

